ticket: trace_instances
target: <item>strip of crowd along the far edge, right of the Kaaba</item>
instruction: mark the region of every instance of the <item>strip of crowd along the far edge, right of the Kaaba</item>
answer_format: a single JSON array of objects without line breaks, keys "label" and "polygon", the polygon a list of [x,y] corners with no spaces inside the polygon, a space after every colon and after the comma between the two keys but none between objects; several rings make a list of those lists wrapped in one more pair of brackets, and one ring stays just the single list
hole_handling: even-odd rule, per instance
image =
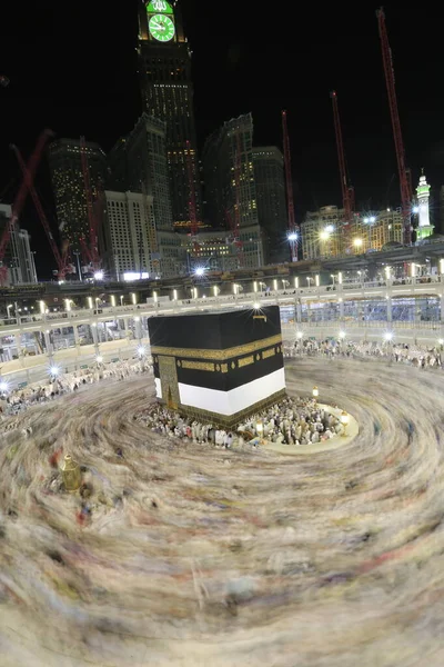
[{"label": "strip of crowd along the far edge, right of the Kaaba", "polygon": [[443,369],[443,346],[420,347],[417,345],[394,344],[384,340],[296,340],[283,346],[285,357],[323,356],[334,360],[339,358],[382,359],[395,364],[406,364],[416,368]]}]

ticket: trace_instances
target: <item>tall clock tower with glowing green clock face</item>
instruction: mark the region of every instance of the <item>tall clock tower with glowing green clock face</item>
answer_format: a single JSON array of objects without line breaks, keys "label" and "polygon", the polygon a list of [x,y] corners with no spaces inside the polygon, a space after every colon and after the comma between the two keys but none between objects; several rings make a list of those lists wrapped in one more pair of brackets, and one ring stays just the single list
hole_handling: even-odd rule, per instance
[{"label": "tall clock tower with glowing green clock face", "polygon": [[138,52],[143,111],[167,122],[174,227],[186,230],[191,226],[188,141],[191,147],[198,220],[201,220],[201,197],[191,51],[183,33],[176,0],[140,0]]}]

